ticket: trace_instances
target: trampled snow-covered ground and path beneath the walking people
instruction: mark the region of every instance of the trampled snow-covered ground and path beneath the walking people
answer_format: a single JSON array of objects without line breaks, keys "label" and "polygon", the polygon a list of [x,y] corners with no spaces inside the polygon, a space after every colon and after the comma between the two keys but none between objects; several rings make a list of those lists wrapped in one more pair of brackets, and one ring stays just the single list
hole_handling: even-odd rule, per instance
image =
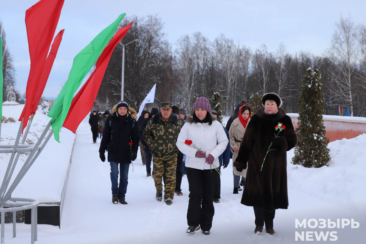
[{"label": "trampled snow-covered ground and path beneath the walking people", "polygon": [[[6,115],[5,115],[6,116]],[[224,118],[226,122],[228,117]],[[48,120],[46,121],[48,122]],[[63,129],[67,131],[66,129]],[[4,127],[3,127],[4,131]],[[3,133],[3,132],[2,132]],[[70,135],[71,138],[72,135]],[[66,134],[61,136],[61,145],[67,144]],[[366,134],[354,139],[329,143],[332,161],[329,167],[303,168],[290,164],[293,150],[287,153],[288,196],[287,210],[276,210],[275,236],[254,234],[252,207],[240,204],[241,194],[232,194],[232,168],[222,169],[221,203],[214,204],[215,215],[211,234],[201,231],[186,234],[188,182],[183,176],[183,196],[175,196],[173,204],[155,200],[152,177],[146,177],[140,154],[130,166],[127,205],[112,204],[111,182],[108,162],[101,162],[97,144],[92,144],[87,120],[79,126],[70,176],[68,180],[60,229],[57,226],[38,225],[38,244],[41,243],[298,243],[298,231],[336,231],[337,240],[316,241],[321,243],[364,243],[366,226],[366,188],[364,147]],[[57,147],[56,147],[57,146]],[[59,150],[60,144],[54,150]],[[51,149],[52,150],[52,149]],[[69,155],[66,155],[69,156]],[[3,160],[1,160],[3,164]],[[37,163],[37,162],[36,162]],[[231,162],[230,162],[231,163]],[[41,170],[41,169],[40,169]],[[46,170],[40,174],[46,174]],[[39,184],[39,187],[42,185]],[[34,197],[34,196],[33,196]],[[359,228],[298,228],[308,219],[353,218]],[[312,223],[314,224],[314,222]],[[5,243],[28,243],[30,225],[18,224],[17,237],[12,238],[11,224],[5,225]]]}]

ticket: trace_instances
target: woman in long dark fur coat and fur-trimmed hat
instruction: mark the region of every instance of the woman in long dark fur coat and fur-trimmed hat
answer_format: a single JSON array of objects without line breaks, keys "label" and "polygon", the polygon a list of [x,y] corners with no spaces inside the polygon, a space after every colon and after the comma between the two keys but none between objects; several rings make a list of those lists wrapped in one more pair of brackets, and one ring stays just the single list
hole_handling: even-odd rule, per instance
[{"label": "woman in long dark fur coat and fur-trimmed hat", "polygon": [[[258,109],[247,125],[233,165],[238,171],[248,167],[241,203],[254,208],[254,233],[261,234],[265,224],[266,232],[275,234],[275,210],[288,206],[286,151],[295,147],[297,136],[279,95],[266,93],[262,103],[264,108]],[[282,127],[276,130],[279,123]],[[273,150],[266,155],[271,143]]]}]

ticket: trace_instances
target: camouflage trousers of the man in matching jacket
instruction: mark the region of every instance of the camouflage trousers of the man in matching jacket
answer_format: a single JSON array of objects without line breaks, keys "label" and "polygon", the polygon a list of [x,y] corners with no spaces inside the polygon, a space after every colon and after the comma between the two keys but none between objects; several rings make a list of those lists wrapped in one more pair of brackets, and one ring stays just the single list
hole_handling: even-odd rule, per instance
[{"label": "camouflage trousers of the man in matching jacket", "polygon": [[165,175],[164,201],[173,200],[175,191],[175,177],[177,169],[177,154],[166,157],[153,155],[153,178],[156,194],[163,192],[163,175]]}]

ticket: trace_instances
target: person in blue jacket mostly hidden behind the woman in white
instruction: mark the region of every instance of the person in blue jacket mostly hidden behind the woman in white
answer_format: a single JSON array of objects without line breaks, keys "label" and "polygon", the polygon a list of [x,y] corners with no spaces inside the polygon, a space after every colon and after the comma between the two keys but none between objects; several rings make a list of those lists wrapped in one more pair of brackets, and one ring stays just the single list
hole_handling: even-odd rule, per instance
[{"label": "person in blue jacket mostly hidden behind the woman in white", "polygon": [[[217,118],[217,112],[215,110],[211,110],[211,115],[214,118]],[[224,126],[223,126],[224,127]],[[219,156],[219,162],[220,162],[220,166],[219,166],[219,170],[221,171],[221,166],[224,165],[223,169],[225,169],[230,162],[230,137],[229,137],[229,132],[227,131],[227,129],[224,127],[224,131],[226,133],[226,136],[228,137],[228,145],[226,146],[225,151],[223,152],[223,154],[221,154]],[[216,179],[215,179],[215,183],[214,183],[214,189],[213,189],[213,202],[215,203],[219,203],[220,202],[220,198],[221,198],[221,180],[220,180],[220,174],[216,173]]]}]

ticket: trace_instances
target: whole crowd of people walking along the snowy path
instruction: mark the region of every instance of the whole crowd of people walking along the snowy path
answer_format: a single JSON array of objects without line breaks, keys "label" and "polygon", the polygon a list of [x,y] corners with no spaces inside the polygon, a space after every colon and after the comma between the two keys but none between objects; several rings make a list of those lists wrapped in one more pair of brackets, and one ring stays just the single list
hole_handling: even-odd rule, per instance
[{"label": "whole crowd of people walking along the snowy path", "polygon": [[170,102],[150,112],[143,110],[139,118],[125,101],[118,102],[112,113],[94,110],[89,124],[93,143],[101,136],[101,161],[108,151],[112,202],[127,204],[128,169],[140,146],[146,177],[154,180],[156,200],[171,205],[175,195],[182,196],[182,176],[186,174],[186,232],[201,229],[210,234],[214,203],[221,198],[221,169],[232,158],[233,194],[243,187],[241,203],[253,207],[254,232],[261,234],[265,226],[267,233],[275,234],[275,210],[288,207],[286,151],[296,145],[297,136],[279,95],[266,93],[262,103],[252,115],[250,104],[239,102],[226,127],[216,120],[217,111],[211,110],[205,97],[194,102],[192,116]]}]

